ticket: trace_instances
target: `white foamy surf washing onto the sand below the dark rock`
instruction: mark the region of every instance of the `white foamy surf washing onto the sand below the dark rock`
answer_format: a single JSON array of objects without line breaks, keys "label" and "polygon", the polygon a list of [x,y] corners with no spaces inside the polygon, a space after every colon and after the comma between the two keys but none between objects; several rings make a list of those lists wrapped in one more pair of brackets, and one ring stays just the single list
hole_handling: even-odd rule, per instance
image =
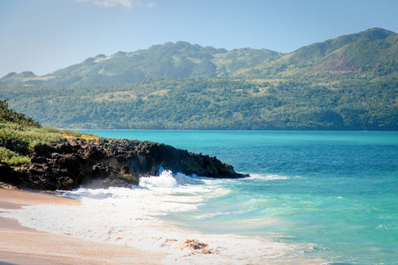
[{"label": "white foamy surf washing onto the sand below the dark rock", "polygon": [[[293,257],[302,246],[237,235],[207,235],[182,230],[156,217],[174,211],[189,211],[200,205],[204,198],[229,193],[217,185],[218,181],[182,174],[173,176],[165,170],[160,177],[142,178],[141,186],[132,189],[80,188],[64,193],[66,197],[81,200],[81,206],[33,205],[2,209],[0,216],[18,219],[22,225],[38,231],[164,252],[168,254],[166,264],[302,261],[302,257]],[[208,246],[198,250],[189,248],[184,245],[188,239]],[[206,251],[212,254],[203,254]]]}]

